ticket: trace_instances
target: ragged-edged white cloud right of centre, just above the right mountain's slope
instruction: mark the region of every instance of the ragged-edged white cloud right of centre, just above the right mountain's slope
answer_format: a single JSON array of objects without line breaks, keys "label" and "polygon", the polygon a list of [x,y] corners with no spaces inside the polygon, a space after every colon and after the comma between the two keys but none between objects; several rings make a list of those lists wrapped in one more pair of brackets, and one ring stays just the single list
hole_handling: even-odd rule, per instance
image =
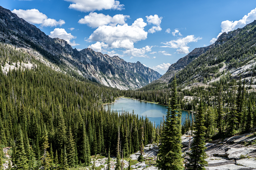
[{"label": "ragged-edged white cloud right of centre, just above the right mountain's slope", "polygon": [[161,47],[179,48],[176,50],[178,54],[188,54],[189,47],[187,46],[187,44],[191,42],[197,42],[200,39],[202,38],[201,37],[195,38],[194,35],[189,35],[184,38],[178,38],[177,40],[172,40],[166,43],[162,43],[162,44],[165,44],[166,46],[161,46]]}]

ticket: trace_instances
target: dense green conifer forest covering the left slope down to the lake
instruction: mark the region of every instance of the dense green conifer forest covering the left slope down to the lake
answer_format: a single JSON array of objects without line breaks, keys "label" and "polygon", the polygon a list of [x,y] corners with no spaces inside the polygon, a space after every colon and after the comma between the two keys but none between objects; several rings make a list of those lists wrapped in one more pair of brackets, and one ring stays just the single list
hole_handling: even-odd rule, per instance
[{"label": "dense green conifer forest covering the left slope down to the lake", "polygon": [[103,103],[113,102],[122,91],[79,81],[27,54],[1,48],[1,63],[34,63],[31,70],[19,67],[7,75],[0,68],[0,142],[12,146],[14,169],[89,165],[91,155],[116,155],[119,145],[120,153],[128,156],[139,150],[142,136],[145,145],[155,140],[148,118],[103,109]]}]

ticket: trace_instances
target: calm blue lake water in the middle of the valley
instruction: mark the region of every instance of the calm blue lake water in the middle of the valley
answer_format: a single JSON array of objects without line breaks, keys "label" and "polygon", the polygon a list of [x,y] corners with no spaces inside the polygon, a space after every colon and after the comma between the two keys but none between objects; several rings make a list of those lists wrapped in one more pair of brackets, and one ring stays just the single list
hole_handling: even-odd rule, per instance
[{"label": "calm blue lake water in the middle of the valley", "polygon": [[[135,115],[138,115],[139,117],[143,116],[143,119],[145,119],[145,117],[147,116],[149,120],[153,122],[153,125],[155,122],[155,126],[160,124],[161,120],[163,120],[163,115],[166,115],[168,107],[166,105],[158,105],[146,101],[129,98],[119,98],[116,100],[115,103],[103,105],[106,110],[108,109],[108,106],[111,108],[111,110],[117,111],[118,113],[122,113],[122,110],[132,113],[132,110],[134,110]],[[186,115],[188,115],[188,112],[182,110],[182,124],[186,119]],[[192,120],[191,115],[190,119]]]}]

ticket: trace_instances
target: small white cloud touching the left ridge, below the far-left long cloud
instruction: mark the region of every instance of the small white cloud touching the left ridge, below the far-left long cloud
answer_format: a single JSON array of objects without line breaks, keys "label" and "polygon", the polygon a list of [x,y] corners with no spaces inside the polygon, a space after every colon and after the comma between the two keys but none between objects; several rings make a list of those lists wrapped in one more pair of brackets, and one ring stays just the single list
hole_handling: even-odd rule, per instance
[{"label": "small white cloud touching the left ridge, below the far-left long cloud", "polygon": [[53,31],[50,32],[49,37],[64,39],[71,46],[80,45],[80,44],[76,44],[75,41],[73,42],[70,41],[71,39],[75,39],[76,37],[71,35],[71,33],[67,33],[64,28],[55,28]]}]

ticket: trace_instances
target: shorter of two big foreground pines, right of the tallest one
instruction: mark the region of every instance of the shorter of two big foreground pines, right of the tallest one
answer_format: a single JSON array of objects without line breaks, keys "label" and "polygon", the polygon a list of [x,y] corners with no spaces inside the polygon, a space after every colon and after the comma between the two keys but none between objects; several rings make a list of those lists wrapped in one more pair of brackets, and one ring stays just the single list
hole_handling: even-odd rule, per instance
[{"label": "shorter of two big foreground pines, right of the tallest one", "polygon": [[204,166],[208,164],[207,161],[204,160],[206,158],[204,111],[204,105],[201,99],[195,121],[196,132],[194,133],[191,152],[188,153],[189,158],[187,159],[188,163],[186,164],[187,170],[203,170],[205,169]]}]

